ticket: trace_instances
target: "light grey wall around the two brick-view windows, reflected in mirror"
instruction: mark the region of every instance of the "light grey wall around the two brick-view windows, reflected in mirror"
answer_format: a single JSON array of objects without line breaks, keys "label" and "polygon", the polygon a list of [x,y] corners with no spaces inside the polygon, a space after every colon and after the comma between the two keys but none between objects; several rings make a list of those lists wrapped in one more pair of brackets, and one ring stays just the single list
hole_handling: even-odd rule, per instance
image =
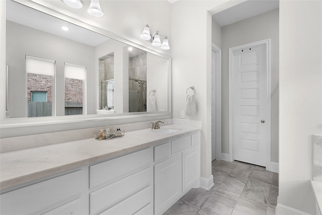
[{"label": "light grey wall around the two brick-view windows, reflected in mirror", "polygon": [[[87,66],[87,86],[94,85],[94,47],[7,21],[6,64],[9,65],[9,114],[25,117],[25,55],[55,60],[56,115],[65,115],[64,63]],[[95,113],[95,90],[87,88],[87,113]]]}]

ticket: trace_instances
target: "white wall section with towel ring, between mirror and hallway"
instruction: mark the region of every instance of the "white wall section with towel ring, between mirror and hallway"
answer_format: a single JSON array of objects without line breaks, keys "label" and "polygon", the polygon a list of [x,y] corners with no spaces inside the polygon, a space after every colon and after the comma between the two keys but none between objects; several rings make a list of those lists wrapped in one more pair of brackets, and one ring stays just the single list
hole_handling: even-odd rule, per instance
[{"label": "white wall section with towel ring, between mirror and hallway", "polygon": [[[172,6],[173,118],[185,110],[186,90],[196,89],[197,116],[201,120],[201,177],[211,178],[211,14],[224,1],[178,1]],[[184,9],[184,10],[183,10]],[[210,180],[210,179],[209,179]]]}]

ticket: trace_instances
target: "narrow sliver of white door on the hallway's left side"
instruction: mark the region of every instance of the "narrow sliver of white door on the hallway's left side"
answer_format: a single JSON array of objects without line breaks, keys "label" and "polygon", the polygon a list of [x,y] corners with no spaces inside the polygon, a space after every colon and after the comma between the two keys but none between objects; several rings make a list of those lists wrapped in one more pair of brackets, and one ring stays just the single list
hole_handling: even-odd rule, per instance
[{"label": "narrow sliver of white door on the hallway's left side", "polygon": [[216,159],[216,53],[211,52],[211,161]]}]

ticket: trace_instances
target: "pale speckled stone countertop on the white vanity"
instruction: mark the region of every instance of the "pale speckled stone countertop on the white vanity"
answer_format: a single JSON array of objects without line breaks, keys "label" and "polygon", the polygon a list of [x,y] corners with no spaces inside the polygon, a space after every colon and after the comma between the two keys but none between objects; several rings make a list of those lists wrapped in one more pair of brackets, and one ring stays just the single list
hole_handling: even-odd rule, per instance
[{"label": "pale speckled stone countertop on the white vanity", "polygon": [[19,150],[0,154],[1,189],[21,185],[33,180],[61,173],[103,160],[162,144],[201,130],[198,127],[167,125],[163,128],[179,129],[162,134],[142,129],[126,132],[112,140],[94,138],[63,142],[61,144]]}]

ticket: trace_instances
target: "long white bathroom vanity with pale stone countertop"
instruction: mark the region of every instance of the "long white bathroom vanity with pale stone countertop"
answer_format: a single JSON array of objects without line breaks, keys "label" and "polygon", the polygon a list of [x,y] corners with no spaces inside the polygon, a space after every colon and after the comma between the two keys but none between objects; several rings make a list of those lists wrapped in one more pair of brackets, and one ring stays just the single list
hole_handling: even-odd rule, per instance
[{"label": "long white bathroom vanity with pale stone countertop", "polygon": [[200,128],[3,153],[2,214],[162,214],[200,181]]}]

